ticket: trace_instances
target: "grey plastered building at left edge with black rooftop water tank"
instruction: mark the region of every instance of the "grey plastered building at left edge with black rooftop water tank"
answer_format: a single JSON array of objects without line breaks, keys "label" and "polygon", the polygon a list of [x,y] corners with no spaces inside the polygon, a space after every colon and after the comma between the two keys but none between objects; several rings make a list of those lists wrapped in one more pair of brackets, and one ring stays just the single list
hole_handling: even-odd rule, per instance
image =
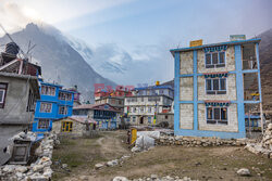
[{"label": "grey plastered building at left edge with black rooftop water tank", "polygon": [[[40,98],[37,75],[40,67],[17,59],[18,47],[8,43],[0,55],[0,165],[13,156],[13,161],[25,164],[29,140],[11,140],[21,131],[27,132],[34,120],[35,102]],[[12,148],[12,153],[9,152]]]}]

